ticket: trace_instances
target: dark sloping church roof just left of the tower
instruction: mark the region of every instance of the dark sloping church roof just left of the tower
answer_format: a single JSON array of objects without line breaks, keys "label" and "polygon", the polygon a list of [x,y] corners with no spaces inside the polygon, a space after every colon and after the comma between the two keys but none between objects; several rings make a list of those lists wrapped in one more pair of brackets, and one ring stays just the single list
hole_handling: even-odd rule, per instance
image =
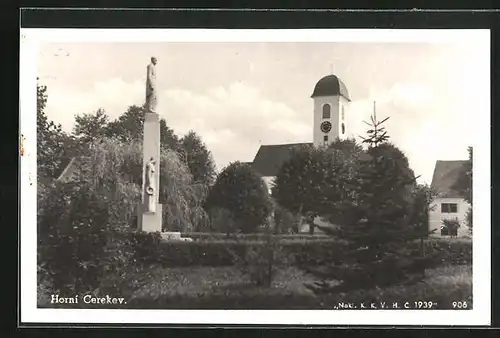
[{"label": "dark sloping church roof just left of the tower", "polygon": [[291,151],[300,146],[312,146],[312,143],[291,143],[260,146],[253,168],[262,176],[276,176],[283,163],[290,158]]}]

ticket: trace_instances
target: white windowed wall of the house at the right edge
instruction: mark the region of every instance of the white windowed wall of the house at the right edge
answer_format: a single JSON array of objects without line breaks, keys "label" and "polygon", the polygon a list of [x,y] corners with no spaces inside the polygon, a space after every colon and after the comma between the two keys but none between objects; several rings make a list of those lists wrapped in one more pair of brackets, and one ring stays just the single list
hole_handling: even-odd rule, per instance
[{"label": "white windowed wall of the house at the right edge", "polygon": [[[441,203],[456,203],[457,213],[441,213]],[[437,229],[434,236],[441,236],[441,225],[444,219],[458,218],[460,228],[458,236],[468,236],[469,228],[467,227],[466,213],[469,210],[470,204],[463,198],[436,198],[431,203],[431,211],[429,212],[429,230]]]}]

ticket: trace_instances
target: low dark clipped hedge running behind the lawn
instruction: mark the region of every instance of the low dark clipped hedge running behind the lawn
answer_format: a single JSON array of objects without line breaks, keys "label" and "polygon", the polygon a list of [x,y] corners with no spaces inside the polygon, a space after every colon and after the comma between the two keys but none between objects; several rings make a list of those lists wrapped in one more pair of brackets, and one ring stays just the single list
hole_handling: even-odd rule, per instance
[{"label": "low dark clipped hedge running behind the lawn", "polygon": [[[249,246],[266,245],[264,240],[162,241],[159,234],[136,233],[136,259],[160,263],[165,267],[230,266],[242,257]],[[276,236],[279,238],[279,236]],[[285,254],[293,256],[296,266],[318,266],[342,263],[346,243],[332,238],[280,239]],[[438,265],[472,263],[472,241],[426,239],[425,253],[435,253]],[[420,241],[412,242],[412,254],[420,256]]]}]

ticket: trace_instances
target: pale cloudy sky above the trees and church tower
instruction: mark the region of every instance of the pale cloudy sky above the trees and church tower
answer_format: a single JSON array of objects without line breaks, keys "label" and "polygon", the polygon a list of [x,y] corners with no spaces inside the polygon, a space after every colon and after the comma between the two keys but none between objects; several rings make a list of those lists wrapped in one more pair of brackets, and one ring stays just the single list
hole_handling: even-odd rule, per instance
[{"label": "pale cloudy sky above the trees and church tower", "polygon": [[[486,46],[487,47],[487,46]],[[377,117],[408,156],[420,182],[436,160],[467,159],[489,116],[489,51],[453,43],[75,42],[43,43],[37,75],[46,113],[70,132],[77,114],[112,118],[145,101],[146,66],[158,59],[160,117],[182,136],[194,130],[220,170],[252,161],[260,145],[312,142],[316,82],[332,72],[351,96],[348,132]]]}]

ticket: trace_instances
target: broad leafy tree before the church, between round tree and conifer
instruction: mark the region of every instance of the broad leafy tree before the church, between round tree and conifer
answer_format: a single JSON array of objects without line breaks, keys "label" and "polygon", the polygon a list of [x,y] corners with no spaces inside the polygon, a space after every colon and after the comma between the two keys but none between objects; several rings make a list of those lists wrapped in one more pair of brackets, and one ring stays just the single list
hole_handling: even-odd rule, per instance
[{"label": "broad leafy tree before the church, between round tree and conifer", "polygon": [[298,148],[283,163],[273,197],[281,207],[304,215],[311,232],[316,216],[342,223],[346,221],[342,205],[354,198],[350,184],[362,155],[362,147],[353,139],[337,139],[328,148]]}]

